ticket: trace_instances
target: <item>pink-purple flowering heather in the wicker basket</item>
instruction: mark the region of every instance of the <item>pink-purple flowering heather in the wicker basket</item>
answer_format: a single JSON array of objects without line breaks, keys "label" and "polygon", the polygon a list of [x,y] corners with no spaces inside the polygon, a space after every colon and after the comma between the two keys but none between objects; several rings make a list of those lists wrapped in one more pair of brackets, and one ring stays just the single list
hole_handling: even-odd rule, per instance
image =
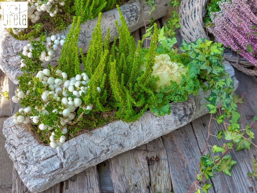
[{"label": "pink-purple flowering heather in the wicker basket", "polygon": [[218,5],[220,11],[210,13],[208,31],[257,67],[257,1],[222,0]]}]

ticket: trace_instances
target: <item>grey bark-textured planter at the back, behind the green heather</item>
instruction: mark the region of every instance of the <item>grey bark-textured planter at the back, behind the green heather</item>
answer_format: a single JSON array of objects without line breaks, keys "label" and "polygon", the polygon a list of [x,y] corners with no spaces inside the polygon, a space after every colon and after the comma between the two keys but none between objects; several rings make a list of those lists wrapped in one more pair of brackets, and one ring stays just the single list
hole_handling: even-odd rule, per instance
[{"label": "grey bark-textured planter at the back, behind the green heather", "polygon": [[[167,15],[170,5],[166,5],[166,3],[170,2],[170,0],[156,0],[155,2],[156,8],[150,16],[147,12],[151,11],[152,7],[145,3],[144,0],[131,0],[120,7],[130,32],[133,32],[144,26],[144,20],[146,21],[146,24],[148,24],[150,17],[153,17],[153,19],[156,20],[163,17],[164,15]],[[98,17],[81,24],[78,47],[82,48],[83,53],[86,53],[88,50],[92,31],[96,26],[97,19]],[[103,39],[105,38],[108,27],[110,28],[110,41],[113,41],[114,37],[118,35],[118,31],[114,23],[115,20],[117,20],[120,24],[119,12],[117,9],[113,9],[102,14],[101,29],[103,33]],[[60,34],[67,35],[69,29],[70,26],[61,31]],[[23,47],[27,44],[28,41],[17,40],[7,31],[4,31],[0,35],[0,68],[15,84],[19,83],[17,77],[21,75],[21,59],[18,53],[22,52]],[[50,63],[51,65],[57,65],[60,53],[60,49],[55,51],[52,60],[50,62],[43,62],[43,65],[45,67],[47,66],[47,63]]]}]

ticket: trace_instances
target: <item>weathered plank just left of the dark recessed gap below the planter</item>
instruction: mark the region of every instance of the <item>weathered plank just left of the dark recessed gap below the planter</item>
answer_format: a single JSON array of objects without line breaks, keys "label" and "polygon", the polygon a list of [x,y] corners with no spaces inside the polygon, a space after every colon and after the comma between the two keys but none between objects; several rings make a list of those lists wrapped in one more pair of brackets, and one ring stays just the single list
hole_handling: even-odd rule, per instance
[{"label": "weathered plank just left of the dark recessed gap below the planter", "polygon": [[100,192],[97,167],[92,166],[83,172],[63,181],[62,193],[96,193]]}]

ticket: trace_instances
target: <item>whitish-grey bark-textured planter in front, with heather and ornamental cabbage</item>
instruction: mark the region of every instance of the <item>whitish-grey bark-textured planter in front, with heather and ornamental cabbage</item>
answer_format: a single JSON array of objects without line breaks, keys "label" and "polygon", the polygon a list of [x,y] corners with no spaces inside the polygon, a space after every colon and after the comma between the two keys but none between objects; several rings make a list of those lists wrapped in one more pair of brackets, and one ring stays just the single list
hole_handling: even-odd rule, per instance
[{"label": "whitish-grey bark-textured planter in front, with heather and ornamental cabbage", "polygon": [[[236,89],[238,81],[234,77],[234,70],[228,62],[224,65],[234,79]],[[210,91],[203,92],[201,89],[196,96],[189,95],[185,102],[171,103],[170,115],[157,117],[147,111],[136,122],[109,123],[81,134],[56,149],[38,144],[28,128],[14,125],[11,117],[3,126],[3,134],[7,138],[5,148],[29,190],[43,191],[86,168],[146,144],[208,113],[204,97],[209,94]]]}]

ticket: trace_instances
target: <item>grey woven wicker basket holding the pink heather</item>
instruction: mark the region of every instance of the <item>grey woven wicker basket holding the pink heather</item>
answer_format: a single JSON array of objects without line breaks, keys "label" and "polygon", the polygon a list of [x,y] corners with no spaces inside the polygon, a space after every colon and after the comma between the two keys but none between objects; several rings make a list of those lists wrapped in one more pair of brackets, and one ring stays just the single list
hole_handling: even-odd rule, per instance
[{"label": "grey woven wicker basket holding the pink heather", "polygon": [[[208,0],[182,0],[179,8],[180,13],[180,33],[187,42],[195,41],[198,37],[207,38],[207,31],[203,27],[203,17],[205,15],[205,6]],[[224,59],[238,70],[252,76],[257,76],[257,71],[249,69],[254,66],[243,57],[235,55],[229,49],[224,51]]]}]

